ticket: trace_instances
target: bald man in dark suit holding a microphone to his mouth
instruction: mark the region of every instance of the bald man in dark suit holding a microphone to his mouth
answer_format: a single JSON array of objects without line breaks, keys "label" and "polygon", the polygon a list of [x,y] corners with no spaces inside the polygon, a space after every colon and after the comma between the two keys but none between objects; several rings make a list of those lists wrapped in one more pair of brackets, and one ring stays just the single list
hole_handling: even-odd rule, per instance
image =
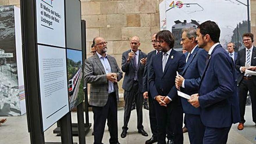
[{"label": "bald man in dark suit holding a microphone to his mouth", "polygon": [[[136,111],[137,111],[137,129],[143,136],[148,136],[144,131],[142,125],[142,81],[143,72],[147,55],[138,49],[140,46],[140,40],[137,36],[134,36],[130,40],[130,47],[128,51],[122,54],[122,71],[125,72],[122,88],[125,90],[125,113],[124,113],[124,126],[121,137],[125,138],[128,130],[128,122],[131,115],[131,106],[133,99],[136,99]],[[140,63],[142,61],[142,63]]]}]

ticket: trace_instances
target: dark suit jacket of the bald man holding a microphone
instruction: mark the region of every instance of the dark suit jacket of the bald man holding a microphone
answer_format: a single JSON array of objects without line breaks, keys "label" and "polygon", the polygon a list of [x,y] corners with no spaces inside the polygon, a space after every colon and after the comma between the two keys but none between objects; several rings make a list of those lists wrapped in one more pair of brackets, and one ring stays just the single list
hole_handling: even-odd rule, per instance
[{"label": "dark suit jacket of the bald man holding a microphone", "polygon": [[[143,73],[144,73],[144,67],[145,65],[142,65],[140,63],[141,58],[146,58],[147,54],[143,53],[140,49],[139,51],[139,59],[138,59],[138,90],[142,92],[142,81],[143,81]],[[122,71],[125,72],[125,77],[123,81],[122,88],[124,90],[131,90],[134,82],[134,61],[131,59],[129,62],[127,62],[128,54],[131,52],[131,49],[128,51],[125,51],[122,54]]]}]

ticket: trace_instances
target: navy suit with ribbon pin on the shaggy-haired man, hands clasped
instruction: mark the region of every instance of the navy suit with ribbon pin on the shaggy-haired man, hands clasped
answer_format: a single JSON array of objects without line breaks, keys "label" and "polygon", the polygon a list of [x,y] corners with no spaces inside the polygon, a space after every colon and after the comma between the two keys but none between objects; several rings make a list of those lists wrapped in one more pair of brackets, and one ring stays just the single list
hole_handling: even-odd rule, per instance
[{"label": "navy suit with ribbon pin on the shaggy-haired man, hands clasped", "polygon": [[[175,88],[175,77],[177,75],[176,71],[182,72],[184,69],[186,59],[184,54],[172,49],[163,72],[162,58],[162,52],[153,57],[149,74],[149,87],[152,98],[161,95],[169,96],[172,99],[167,104],[167,107],[160,106],[154,100],[158,124],[158,144],[166,144],[166,133],[170,131],[174,133],[175,144],[183,144],[183,114],[180,98],[177,96]],[[166,127],[171,130],[166,131]]]}]

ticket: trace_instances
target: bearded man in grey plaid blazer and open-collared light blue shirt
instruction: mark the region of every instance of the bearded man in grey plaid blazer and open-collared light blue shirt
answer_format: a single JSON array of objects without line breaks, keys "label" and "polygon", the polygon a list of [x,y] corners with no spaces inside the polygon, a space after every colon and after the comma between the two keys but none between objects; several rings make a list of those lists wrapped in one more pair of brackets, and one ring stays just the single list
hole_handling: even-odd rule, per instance
[{"label": "bearded man in grey plaid blazer and open-collared light blue shirt", "polygon": [[107,55],[107,42],[95,38],[96,54],[85,60],[84,78],[90,83],[90,102],[93,107],[94,144],[102,144],[106,119],[108,119],[110,144],[118,142],[117,101],[118,84],[122,72],[114,57]]}]

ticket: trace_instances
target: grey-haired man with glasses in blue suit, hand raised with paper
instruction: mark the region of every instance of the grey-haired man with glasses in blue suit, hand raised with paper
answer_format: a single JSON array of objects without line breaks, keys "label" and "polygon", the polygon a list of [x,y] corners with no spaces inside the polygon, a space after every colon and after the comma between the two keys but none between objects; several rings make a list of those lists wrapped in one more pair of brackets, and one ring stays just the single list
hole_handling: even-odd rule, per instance
[{"label": "grey-haired man with glasses in blue suit, hand raised with paper", "polygon": [[[198,93],[200,79],[205,69],[207,52],[198,48],[196,29],[183,29],[180,44],[188,51],[186,65],[181,75],[176,76],[176,88],[183,93],[193,95]],[[187,99],[181,97],[182,108],[186,115],[186,125],[189,132],[191,144],[202,144],[205,133],[205,126],[200,118],[200,108],[193,107]]]}]

